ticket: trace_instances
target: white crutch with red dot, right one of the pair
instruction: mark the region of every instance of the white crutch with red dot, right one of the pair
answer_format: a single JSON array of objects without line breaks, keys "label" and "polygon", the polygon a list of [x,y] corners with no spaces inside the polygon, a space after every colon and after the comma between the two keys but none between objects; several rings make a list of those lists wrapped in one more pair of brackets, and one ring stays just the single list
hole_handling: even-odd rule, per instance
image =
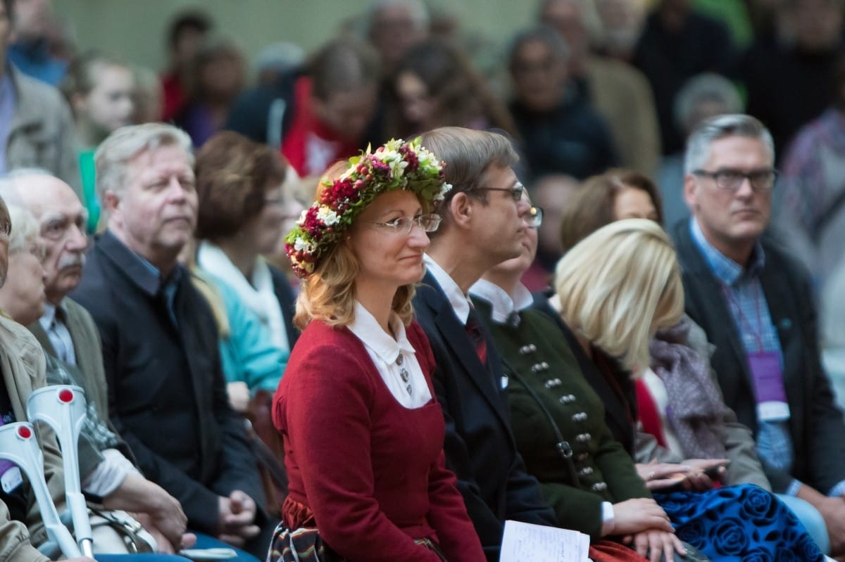
[{"label": "white crutch with red dot, right one of the pair", "polygon": [[82,553],[94,557],[94,536],[88,518],[88,506],[79,484],[79,431],[85,424],[85,391],[80,386],[55,385],[39,388],[30,394],[26,415],[31,421],[42,421],[54,432],[62,447],[64,489],[74,534]]}]

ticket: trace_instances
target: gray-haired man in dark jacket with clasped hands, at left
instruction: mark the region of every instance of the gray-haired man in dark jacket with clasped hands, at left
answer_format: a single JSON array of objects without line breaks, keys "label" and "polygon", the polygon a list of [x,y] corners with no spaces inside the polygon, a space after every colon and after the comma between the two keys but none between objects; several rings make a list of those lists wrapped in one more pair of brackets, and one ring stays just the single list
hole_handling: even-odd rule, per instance
[{"label": "gray-haired man in dark jacket with clasped hands, at left", "polygon": [[264,557],[273,521],[226,398],[215,322],[177,263],[196,223],[190,140],[162,124],[123,127],[95,162],[108,230],[72,296],[99,328],[112,422],[188,527]]}]

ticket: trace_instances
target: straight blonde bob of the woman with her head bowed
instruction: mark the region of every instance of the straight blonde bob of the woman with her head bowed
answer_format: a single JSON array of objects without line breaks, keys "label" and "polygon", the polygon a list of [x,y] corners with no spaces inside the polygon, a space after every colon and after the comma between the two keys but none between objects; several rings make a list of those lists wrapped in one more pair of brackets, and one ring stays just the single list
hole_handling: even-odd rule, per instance
[{"label": "straight blonde bob of the woman with her head bowed", "polygon": [[684,314],[678,259],[653,220],[618,220],[581,240],[560,258],[554,288],[564,322],[635,373],[649,365],[654,332]]}]

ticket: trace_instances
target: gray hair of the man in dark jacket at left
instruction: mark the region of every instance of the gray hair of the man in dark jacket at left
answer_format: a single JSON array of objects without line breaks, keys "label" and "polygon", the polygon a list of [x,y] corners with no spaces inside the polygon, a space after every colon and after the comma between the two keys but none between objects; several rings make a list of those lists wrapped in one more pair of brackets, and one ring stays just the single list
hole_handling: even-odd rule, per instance
[{"label": "gray hair of the man in dark jacket at left", "polygon": [[188,163],[193,166],[191,138],[180,128],[165,123],[144,123],[120,127],[112,132],[94,154],[100,200],[106,201],[106,192],[123,192],[129,160],[144,151],[173,145],[185,151]]}]

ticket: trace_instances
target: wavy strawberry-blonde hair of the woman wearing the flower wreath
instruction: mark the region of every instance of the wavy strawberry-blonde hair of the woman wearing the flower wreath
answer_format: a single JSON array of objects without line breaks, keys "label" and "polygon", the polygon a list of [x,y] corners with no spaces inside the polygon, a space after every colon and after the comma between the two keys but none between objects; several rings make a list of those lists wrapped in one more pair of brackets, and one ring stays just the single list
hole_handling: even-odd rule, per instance
[{"label": "wavy strawberry-blonde hair of the woman wearing the flower wreath", "polygon": [[[336,162],[326,170],[324,181],[317,187],[320,193],[326,187],[326,179],[333,181],[346,171],[346,161]],[[330,184],[329,181],[329,184]],[[423,204],[423,208],[426,205]],[[314,319],[328,326],[348,326],[355,320],[355,278],[359,263],[352,248],[341,240],[332,251],[319,263],[314,272],[303,280],[297,297],[297,311],[293,323],[300,330]],[[407,326],[413,318],[411,300],[414,297],[414,285],[402,285],[393,296],[390,308],[399,315]]]}]

